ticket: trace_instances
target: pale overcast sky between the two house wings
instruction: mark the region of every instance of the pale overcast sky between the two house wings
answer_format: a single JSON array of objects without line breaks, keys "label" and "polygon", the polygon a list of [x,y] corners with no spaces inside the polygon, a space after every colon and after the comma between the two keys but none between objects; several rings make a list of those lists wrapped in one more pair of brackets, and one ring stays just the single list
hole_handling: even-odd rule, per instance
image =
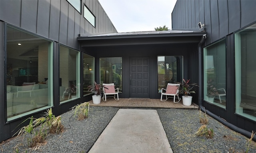
[{"label": "pale overcast sky between the two house wings", "polygon": [[176,0],[98,0],[118,32],[172,29]]}]

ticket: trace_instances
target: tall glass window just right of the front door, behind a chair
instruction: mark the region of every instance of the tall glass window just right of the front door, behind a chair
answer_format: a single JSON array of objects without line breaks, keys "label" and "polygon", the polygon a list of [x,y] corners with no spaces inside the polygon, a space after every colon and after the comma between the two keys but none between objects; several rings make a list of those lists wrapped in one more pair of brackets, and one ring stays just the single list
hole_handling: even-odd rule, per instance
[{"label": "tall glass window just right of the front door, behind a chair", "polygon": [[158,56],[158,92],[168,83],[181,82],[183,78],[182,56]]}]

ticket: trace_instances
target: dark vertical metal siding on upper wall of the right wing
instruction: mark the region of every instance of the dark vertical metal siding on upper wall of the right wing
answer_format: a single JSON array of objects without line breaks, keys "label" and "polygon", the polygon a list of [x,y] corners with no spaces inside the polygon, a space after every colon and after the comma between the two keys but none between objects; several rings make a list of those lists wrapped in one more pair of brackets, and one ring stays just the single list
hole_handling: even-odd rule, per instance
[{"label": "dark vertical metal siding on upper wall of the right wing", "polygon": [[201,22],[205,24],[208,45],[255,22],[255,8],[256,0],[177,0],[172,29],[200,31],[197,24]]}]

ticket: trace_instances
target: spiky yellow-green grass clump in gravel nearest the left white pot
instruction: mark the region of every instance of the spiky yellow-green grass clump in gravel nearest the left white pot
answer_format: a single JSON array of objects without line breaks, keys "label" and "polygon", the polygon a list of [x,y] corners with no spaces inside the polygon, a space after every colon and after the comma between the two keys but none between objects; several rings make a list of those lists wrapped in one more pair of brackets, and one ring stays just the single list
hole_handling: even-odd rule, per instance
[{"label": "spiky yellow-green grass clump in gravel nearest the left white pot", "polygon": [[82,104],[77,104],[72,107],[74,117],[77,115],[77,120],[84,120],[88,116],[89,112],[89,102],[84,102]]}]

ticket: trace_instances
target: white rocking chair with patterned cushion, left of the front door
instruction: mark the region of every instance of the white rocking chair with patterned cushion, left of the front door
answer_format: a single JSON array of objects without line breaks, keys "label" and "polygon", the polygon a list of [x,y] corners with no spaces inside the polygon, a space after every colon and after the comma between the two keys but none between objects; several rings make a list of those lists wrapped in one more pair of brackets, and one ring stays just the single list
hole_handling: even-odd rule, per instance
[{"label": "white rocking chair with patterned cushion, left of the front door", "polygon": [[[103,97],[102,97],[102,100],[104,102],[106,102],[107,97],[114,97],[114,99],[116,101],[119,100],[119,98],[118,98],[119,89],[118,88],[115,89],[114,83],[103,83],[102,85],[103,85]],[[104,88],[104,87],[106,87],[106,88]],[[107,96],[107,95],[114,95],[114,96]],[[116,96],[117,96],[117,99],[116,99]]]}]

